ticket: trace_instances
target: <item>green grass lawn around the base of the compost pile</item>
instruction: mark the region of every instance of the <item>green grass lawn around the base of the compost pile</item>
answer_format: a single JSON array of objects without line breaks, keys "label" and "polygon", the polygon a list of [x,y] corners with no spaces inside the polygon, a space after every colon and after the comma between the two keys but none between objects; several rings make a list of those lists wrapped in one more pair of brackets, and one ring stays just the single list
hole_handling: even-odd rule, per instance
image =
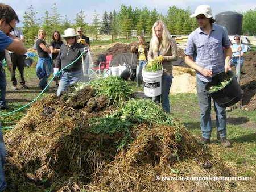
[{"label": "green grass lawn around the base of the compost pile", "polygon": [[[10,110],[1,111],[1,114],[16,110],[32,101],[40,93],[38,89],[38,78],[35,68],[25,68],[26,84],[30,89],[13,91],[10,82],[10,73],[7,72],[7,94],[6,98]],[[19,81],[19,75],[18,75]],[[142,90],[142,87],[135,87],[135,82],[129,82],[129,86],[134,90]],[[42,97],[56,93],[55,83],[51,89]],[[171,110],[176,119],[196,137],[200,137],[199,105],[196,94],[172,94]],[[22,116],[26,115],[26,110],[16,112],[10,116],[1,117],[2,127],[13,126],[19,122]],[[213,108],[212,108],[213,110]],[[214,110],[213,110],[214,111]],[[214,114],[214,112],[213,112]],[[228,112],[228,139],[233,143],[232,148],[222,148],[216,140],[216,129],[213,130],[212,143],[209,145],[213,155],[221,158],[229,168],[236,170],[237,176],[253,177],[251,183],[256,178],[256,111],[244,111],[240,108]],[[214,115],[213,126],[214,126]],[[5,130],[6,132],[8,130]],[[253,185],[252,185],[253,186]],[[253,190],[252,190],[253,191]]]}]

